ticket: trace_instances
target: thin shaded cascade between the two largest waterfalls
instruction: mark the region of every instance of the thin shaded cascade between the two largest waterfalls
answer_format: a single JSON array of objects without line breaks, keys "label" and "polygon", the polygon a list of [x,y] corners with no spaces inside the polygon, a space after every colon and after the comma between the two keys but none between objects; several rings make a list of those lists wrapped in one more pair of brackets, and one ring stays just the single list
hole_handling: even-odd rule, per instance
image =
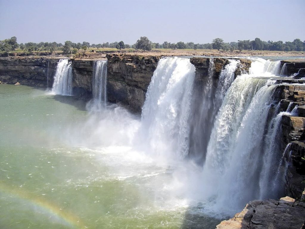
[{"label": "thin shaded cascade between the two largest waterfalls", "polygon": [[229,64],[224,67],[217,80],[214,77],[214,61],[210,59],[207,82],[203,83],[203,89],[193,91],[192,97],[195,99],[192,100],[192,116],[189,121],[191,125],[189,154],[195,156],[197,161],[205,159],[215,116],[225,93],[234,81],[239,62],[239,60],[229,60]]}]

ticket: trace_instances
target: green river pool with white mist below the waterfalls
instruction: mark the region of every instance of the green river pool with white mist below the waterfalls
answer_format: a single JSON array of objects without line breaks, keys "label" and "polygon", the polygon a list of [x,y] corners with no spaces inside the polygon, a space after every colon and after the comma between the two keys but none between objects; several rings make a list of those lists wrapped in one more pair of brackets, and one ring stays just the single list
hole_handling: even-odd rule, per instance
[{"label": "green river pool with white mist below the waterfalls", "polygon": [[133,150],[139,119],[0,85],[0,228],[215,228],[173,194],[174,167]]}]

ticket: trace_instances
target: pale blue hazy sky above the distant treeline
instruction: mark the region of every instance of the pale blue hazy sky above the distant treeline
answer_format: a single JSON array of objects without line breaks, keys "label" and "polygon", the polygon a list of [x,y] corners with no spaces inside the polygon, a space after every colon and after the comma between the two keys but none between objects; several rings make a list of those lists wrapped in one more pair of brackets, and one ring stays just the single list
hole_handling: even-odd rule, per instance
[{"label": "pale blue hazy sky above the distant treeline", "polygon": [[0,40],[305,40],[305,0],[0,0]]}]

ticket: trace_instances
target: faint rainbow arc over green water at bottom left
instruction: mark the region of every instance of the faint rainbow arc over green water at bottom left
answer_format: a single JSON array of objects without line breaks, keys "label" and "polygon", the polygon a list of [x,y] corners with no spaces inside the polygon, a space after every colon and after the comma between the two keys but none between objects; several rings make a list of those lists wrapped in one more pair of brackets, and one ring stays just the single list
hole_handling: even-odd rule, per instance
[{"label": "faint rainbow arc over green water at bottom left", "polygon": [[71,213],[64,212],[58,205],[49,202],[41,196],[34,196],[27,192],[24,188],[16,188],[0,182],[0,192],[7,194],[9,197],[19,198],[25,202],[30,202],[36,208],[41,209],[43,212],[48,213],[52,217],[48,219],[56,219],[60,224],[69,225],[70,227],[87,228],[81,220]]}]

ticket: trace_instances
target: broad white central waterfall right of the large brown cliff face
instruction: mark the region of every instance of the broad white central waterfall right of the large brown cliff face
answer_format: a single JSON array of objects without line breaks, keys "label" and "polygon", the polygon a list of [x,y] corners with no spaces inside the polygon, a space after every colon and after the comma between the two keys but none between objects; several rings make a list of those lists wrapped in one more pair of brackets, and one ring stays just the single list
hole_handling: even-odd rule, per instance
[{"label": "broad white central waterfall right of the large brown cliff face", "polygon": [[140,129],[152,154],[169,159],[188,154],[194,77],[195,66],[188,58],[159,60],[146,93]]}]

